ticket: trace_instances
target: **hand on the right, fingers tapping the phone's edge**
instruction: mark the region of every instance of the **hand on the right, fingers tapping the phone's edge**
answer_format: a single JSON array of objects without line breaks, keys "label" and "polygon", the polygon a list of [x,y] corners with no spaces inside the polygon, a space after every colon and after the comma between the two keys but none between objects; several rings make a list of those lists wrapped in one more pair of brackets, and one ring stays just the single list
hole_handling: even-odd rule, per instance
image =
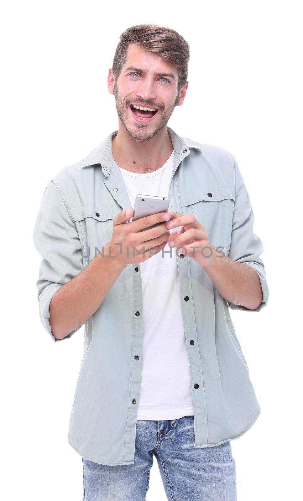
[{"label": "hand on the right, fingers tapping the phone's edge", "polygon": [[167,228],[182,226],[179,231],[172,231],[168,240],[170,247],[181,247],[179,254],[193,258],[198,265],[206,267],[212,264],[214,258],[222,257],[210,244],[204,226],[193,214],[180,214],[170,211],[171,219]]}]

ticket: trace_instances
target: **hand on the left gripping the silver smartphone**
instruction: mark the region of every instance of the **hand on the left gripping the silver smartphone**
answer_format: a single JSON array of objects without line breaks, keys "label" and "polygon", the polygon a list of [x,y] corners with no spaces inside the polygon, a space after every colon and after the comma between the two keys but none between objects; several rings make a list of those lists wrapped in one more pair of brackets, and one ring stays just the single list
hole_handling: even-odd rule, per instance
[{"label": "hand on the left gripping the silver smartphone", "polygon": [[[165,221],[171,217],[167,212],[158,212],[129,222],[128,219],[132,216],[133,209],[130,208],[121,210],[114,217],[112,236],[105,246],[105,255],[114,258],[124,267],[128,264],[142,263],[158,254],[170,236],[165,225]],[[163,224],[141,231],[157,222]]]}]

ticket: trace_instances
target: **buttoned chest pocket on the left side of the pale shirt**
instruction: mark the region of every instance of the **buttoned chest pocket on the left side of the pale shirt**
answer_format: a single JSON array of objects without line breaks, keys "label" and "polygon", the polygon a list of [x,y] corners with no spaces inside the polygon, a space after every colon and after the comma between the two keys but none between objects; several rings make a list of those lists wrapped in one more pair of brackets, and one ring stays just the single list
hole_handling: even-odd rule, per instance
[{"label": "buttoned chest pocket on the left side of the pale shirt", "polygon": [[111,239],[116,210],[111,206],[83,205],[71,208],[70,213],[78,230],[85,267]]}]

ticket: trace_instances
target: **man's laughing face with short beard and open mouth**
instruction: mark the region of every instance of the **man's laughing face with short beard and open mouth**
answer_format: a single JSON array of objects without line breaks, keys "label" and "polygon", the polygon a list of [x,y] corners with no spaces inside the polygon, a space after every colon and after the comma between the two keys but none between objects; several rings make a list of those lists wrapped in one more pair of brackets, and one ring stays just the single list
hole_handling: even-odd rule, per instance
[{"label": "man's laughing face with short beard and open mouth", "polygon": [[[179,102],[177,92],[178,70],[175,66],[136,44],[128,46],[125,64],[114,81],[113,94],[118,117],[131,139],[148,141],[166,126]],[[179,104],[183,99],[181,101]],[[131,104],[157,108],[158,111],[135,111]]]}]

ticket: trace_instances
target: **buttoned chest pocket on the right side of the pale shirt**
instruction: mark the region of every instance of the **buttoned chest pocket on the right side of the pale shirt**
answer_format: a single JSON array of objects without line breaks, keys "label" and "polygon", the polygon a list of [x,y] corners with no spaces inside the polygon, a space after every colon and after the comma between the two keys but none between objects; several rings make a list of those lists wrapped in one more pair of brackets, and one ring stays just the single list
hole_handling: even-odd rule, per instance
[{"label": "buttoned chest pocket on the right side of the pale shirt", "polygon": [[228,255],[235,195],[227,186],[196,189],[180,195],[183,214],[194,214],[210,243]]}]

